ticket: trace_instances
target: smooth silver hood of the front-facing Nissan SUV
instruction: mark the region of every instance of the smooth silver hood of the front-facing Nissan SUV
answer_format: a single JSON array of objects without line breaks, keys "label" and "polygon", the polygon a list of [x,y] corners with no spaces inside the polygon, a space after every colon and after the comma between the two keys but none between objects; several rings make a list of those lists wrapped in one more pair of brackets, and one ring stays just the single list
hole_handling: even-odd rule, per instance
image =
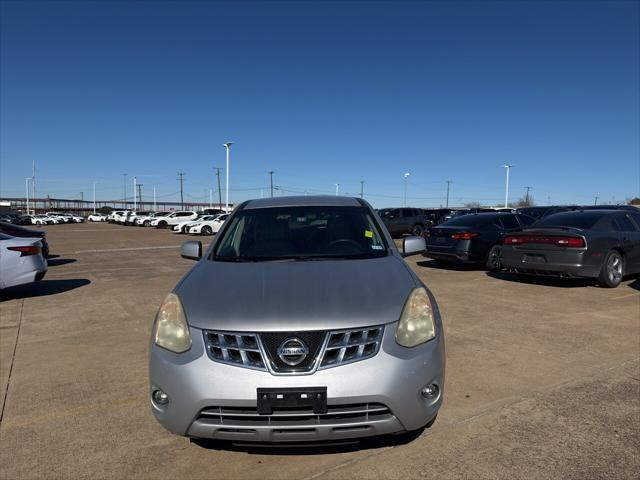
[{"label": "smooth silver hood of the front-facing Nissan SUV", "polygon": [[203,260],[176,293],[194,327],[304,331],[396,321],[415,286],[396,256],[252,263]]}]

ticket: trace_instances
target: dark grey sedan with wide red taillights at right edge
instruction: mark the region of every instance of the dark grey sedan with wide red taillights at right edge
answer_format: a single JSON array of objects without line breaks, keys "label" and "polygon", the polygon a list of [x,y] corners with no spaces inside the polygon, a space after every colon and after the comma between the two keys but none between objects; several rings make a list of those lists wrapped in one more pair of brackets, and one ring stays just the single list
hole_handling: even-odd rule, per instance
[{"label": "dark grey sedan with wide red taillights at right edge", "polygon": [[576,210],[543,218],[508,235],[502,265],[518,273],[597,278],[617,287],[640,272],[640,213]]}]

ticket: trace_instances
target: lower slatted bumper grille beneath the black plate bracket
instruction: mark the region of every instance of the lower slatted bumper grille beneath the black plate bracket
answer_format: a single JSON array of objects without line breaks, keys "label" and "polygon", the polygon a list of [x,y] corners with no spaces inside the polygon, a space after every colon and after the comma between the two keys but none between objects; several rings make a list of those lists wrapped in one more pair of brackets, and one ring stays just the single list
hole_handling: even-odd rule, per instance
[{"label": "lower slatted bumper grille beneath the black plate bracket", "polygon": [[208,407],[200,411],[198,420],[228,428],[242,427],[298,427],[331,425],[336,423],[367,423],[388,418],[389,407],[382,403],[328,405],[327,413],[315,414],[311,408],[292,410],[274,408],[271,415],[260,415],[256,407]]}]

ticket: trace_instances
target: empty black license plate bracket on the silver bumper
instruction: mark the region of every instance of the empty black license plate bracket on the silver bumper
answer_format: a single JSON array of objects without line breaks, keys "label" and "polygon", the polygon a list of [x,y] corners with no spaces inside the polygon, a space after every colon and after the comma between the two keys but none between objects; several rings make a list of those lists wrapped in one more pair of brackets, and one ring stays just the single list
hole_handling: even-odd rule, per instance
[{"label": "empty black license plate bracket on the silver bumper", "polygon": [[311,407],[313,413],[327,413],[327,387],[258,388],[258,413],[273,414],[274,407]]}]

